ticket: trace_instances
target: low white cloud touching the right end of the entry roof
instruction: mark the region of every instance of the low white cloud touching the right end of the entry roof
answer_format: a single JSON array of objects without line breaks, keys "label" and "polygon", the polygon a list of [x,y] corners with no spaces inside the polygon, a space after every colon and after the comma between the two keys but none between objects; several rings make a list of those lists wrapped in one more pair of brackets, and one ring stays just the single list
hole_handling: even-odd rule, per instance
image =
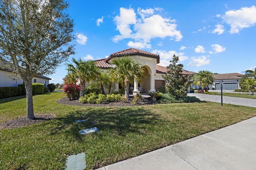
[{"label": "low white cloud touching the right end of the entry roof", "polygon": [[177,53],[176,51],[153,50],[152,53],[158,54],[160,56],[160,59],[168,61],[172,60],[173,55],[178,56],[179,61],[184,61],[188,59],[188,57],[185,56],[185,53]]}]

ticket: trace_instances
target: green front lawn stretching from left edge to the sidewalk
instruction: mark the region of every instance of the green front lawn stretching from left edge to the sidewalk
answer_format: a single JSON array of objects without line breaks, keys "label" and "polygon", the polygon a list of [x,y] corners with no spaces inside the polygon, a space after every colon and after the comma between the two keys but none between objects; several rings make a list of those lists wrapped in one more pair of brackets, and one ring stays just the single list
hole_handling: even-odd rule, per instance
[{"label": "green front lawn stretching from left edge to the sidewalk", "polygon": [[[56,103],[62,97],[33,97],[35,115],[54,113],[55,119],[0,130],[0,169],[64,169],[67,156],[81,152],[87,169],[99,168],[256,116],[256,108],[213,102],[80,107]],[[0,100],[0,123],[26,115],[26,99],[14,99]],[[90,127],[99,131],[79,134]]]}]

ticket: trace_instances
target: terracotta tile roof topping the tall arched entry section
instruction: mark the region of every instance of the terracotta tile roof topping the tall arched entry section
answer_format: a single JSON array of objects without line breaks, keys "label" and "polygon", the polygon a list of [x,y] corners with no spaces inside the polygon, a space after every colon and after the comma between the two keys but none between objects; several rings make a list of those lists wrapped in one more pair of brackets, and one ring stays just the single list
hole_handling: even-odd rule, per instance
[{"label": "terracotta tile roof topping the tall arched entry section", "polygon": [[147,51],[143,51],[140,49],[134,49],[134,48],[130,48],[130,49],[126,49],[123,51],[118,51],[116,53],[112,53],[107,59],[106,61],[109,61],[110,59],[112,59],[113,57],[123,57],[124,55],[140,55],[140,56],[144,56],[144,57],[150,57],[150,58],[155,58],[157,60],[157,63],[159,63],[160,61],[160,57],[158,54],[154,54],[154,53],[150,53]]}]

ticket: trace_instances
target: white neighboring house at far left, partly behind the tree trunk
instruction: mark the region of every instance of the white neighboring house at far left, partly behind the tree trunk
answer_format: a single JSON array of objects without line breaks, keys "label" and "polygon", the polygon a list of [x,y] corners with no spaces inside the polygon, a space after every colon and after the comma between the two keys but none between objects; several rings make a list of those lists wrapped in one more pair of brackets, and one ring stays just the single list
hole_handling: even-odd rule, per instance
[{"label": "white neighboring house at far left, partly behind the tree trunk", "polygon": [[[6,61],[0,61],[0,87],[13,87],[23,84],[22,78],[15,73],[14,68],[8,67],[10,63]],[[34,76],[32,78],[32,83],[42,83],[44,86],[49,84],[49,80],[46,76]]]}]

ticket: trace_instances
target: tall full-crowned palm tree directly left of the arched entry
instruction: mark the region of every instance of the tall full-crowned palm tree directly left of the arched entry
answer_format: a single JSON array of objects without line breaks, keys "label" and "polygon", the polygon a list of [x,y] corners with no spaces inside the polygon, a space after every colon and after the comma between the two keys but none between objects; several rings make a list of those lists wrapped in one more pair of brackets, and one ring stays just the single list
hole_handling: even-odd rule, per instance
[{"label": "tall full-crowned palm tree directly left of the arched entry", "polygon": [[115,82],[124,82],[124,95],[130,100],[129,97],[129,82],[132,80],[137,80],[138,82],[144,78],[144,68],[141,68],[140,63],[138,63],[134,58],[121,57],[119,59],[113,59],[112,64],[115,65],[111,69],[110,73],[114,75]]}]

